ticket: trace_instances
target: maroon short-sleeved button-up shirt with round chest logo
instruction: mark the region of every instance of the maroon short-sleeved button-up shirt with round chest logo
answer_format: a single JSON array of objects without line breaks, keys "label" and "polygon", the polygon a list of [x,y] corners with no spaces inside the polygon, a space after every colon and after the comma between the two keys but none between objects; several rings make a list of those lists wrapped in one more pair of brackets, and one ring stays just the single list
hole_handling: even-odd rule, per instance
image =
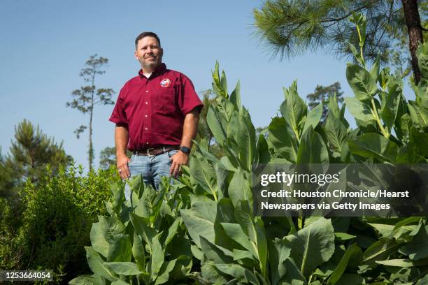
[{"label": "maroon short-sleeved button-up shirt with round chest logo", "polygon": [[185,115],[202,102],[189,78],[162,64],[145,78],[140,70],[120,90],[110,121],[128,126],[128,149],[180,145]]}]

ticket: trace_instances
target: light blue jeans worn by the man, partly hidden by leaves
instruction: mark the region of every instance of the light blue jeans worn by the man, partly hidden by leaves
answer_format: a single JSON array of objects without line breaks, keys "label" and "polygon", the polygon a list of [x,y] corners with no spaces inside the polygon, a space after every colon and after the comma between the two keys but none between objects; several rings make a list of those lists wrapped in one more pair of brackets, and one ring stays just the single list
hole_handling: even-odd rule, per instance
[{"label": "light blue jeans worn by the man, partly hidden by leaves", "polygon": [[[135,175],[143,175],[145,184],[150,184],[155,189],[159,189],[159,182],[162,176],[169,177],[169,170],[171,168],[171,156],[176,154],[178,150],[170,150],[163,154],[156,156],[133,155],[131,161],[128,162],[129,173],[131,177]],[[125,198],[131,200],[131,189],[129,186],[124,190]]]}]

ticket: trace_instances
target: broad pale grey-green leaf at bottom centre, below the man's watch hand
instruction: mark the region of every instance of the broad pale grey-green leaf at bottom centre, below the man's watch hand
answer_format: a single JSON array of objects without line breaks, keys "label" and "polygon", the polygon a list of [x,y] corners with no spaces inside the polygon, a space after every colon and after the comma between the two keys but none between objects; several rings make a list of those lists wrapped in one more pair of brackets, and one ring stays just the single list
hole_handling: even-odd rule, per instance
[{"label": "broad pale grey-green leaf at bottom centre, below the man's watch hand", "polygon": [[217,216],[216,204],[214,201],[200,201],[195,202],[189,210],[180,210],[187,231],[189,231],[190,237],[199,248],[201,248],[199,236],[203,236],[206,240],[214,243],[214,221]]}]

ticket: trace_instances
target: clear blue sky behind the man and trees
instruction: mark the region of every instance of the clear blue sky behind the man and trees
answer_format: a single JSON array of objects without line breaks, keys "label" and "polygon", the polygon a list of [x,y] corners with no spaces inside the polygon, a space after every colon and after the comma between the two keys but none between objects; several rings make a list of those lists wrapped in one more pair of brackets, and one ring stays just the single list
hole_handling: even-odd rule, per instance
[{"label": "clear blue sky behind the man and trees", "polygon": [[[162,41],[166,66],[185,73],[197,92],[211,87],[215,61],[227,74],[229,89],[241,81],[243,105],[255,126],[266,126],[283,101],[283,87],[297,80],[299,94],[316,85],[345,79],[345,60],[323,50],[291,60],[271,59],[254,36],[252,9],[262,1],[48,1],[3,0],[0,4],[0,136],[6,154],[22,119],[64,142],[64,149],[87,167],[87,132],[73,131],[89,117],[66,108],[71,92],[85,82],[80,69],[92,54],[109,59],[97,87],[116,95],[140,68],[134,39],[155,31]],[[94,109],[96,166],[101,149],[114,145],[113,106]]]}]

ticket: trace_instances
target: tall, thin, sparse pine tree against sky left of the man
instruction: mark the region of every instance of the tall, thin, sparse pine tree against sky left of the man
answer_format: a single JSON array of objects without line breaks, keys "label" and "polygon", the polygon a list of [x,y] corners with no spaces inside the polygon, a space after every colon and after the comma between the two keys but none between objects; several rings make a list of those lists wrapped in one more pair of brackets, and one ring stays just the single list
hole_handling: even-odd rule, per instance
[{"label": "tall, thin, sparse pine tree against sky left of the man", "polygon": [[113,105],[114,102],[111,96],[115,94],[113,89],[110,88],[99,88],[95,87],[95,78],[97,75],[106,73],[104,67],[107,66],[108,59],[105,57],[98,57],[97,54],[91,55],[85,63],[85,68],[80,71],[80,76],[83,77],[85,82],[89,82],[90,85],[80,87],[71,92],[73,101],[67,102],[66,106],[77,109],[83,114],[89,114],[90,120],[86,125],[81,125],[74,131],[76,137],[80,138],[80,133],[83,133],[85,129],[89,127],[89,149],[88,149],[88,160],[89,169],[92,170],[94,165],[94,145],[92,142],[92,122],[94,119],[94,106],[95,105]]}]

